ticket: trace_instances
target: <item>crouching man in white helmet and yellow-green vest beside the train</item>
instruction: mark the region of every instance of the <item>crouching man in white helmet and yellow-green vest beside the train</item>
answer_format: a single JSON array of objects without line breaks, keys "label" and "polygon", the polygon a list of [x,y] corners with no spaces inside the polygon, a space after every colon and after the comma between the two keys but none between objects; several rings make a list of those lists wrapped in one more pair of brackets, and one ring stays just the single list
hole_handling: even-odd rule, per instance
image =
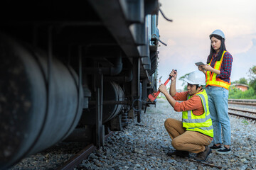
[{"label": "crouching man in white helmet and yellow-green vest beside the train", "polygon": [[[170,91],[161,84],[159,91],[166,96],[174,111],[182,111],[182,121],[168,118],[164,126],[171,137],[171,145],[175,152],[167,155],[189,157],[189,152],[196,153],[197,161],[206,161],[211,149],[208,147],[213,140],[213,125],[208,108],[208,96],[202,85],[206,84],[203,72],[195,71],[188,74],[185,81],[188,91],[176,92],[177,72],[172,70]],[[178,103],[177,101],[182,101]]]}]

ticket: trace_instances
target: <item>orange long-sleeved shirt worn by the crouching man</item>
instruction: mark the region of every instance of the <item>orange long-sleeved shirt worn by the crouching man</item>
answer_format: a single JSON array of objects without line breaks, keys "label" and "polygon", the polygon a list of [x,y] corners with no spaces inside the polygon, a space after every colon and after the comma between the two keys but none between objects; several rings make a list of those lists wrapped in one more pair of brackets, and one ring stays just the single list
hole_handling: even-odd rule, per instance
[{"label": "orange long-sleeved shirt worn by the crouching man", "polygon": [[[203,90],[199,91],[198,93],[202,92]],[[176,101],[183,101],[181,103],[176,102],[174,106],[174,111],[181,112],[181,111],[193,111],[194,115],[202,115],[203,104],[201,102],[201,98],[194,94],[188,101],[188,91],[183,91],[181,93],[176,93],[173,98]]]}]

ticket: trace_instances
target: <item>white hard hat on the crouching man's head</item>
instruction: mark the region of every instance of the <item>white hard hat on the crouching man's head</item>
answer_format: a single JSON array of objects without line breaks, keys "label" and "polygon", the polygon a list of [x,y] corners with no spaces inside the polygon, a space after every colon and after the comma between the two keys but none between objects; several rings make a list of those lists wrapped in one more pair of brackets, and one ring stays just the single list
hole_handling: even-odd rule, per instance
[{"label": "white hard hat on the crouching man's head", "polygon": [[203,72],[196,70],[188,74],[188,77],[184,79],[189,84],[206,85],[206,75]]}]

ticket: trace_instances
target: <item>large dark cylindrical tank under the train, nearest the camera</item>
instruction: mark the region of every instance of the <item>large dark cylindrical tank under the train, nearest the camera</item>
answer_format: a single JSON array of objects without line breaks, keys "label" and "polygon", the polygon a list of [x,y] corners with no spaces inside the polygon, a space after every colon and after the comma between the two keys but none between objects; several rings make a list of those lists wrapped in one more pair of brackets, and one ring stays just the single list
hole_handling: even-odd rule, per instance
[{"label": "large dark cylindrical tank under the train, nearest the camera", "polygon": [[72,68],[30,45],[0,34],[0,58],[0,169],[6,169],[68,137],[83,95]]}]

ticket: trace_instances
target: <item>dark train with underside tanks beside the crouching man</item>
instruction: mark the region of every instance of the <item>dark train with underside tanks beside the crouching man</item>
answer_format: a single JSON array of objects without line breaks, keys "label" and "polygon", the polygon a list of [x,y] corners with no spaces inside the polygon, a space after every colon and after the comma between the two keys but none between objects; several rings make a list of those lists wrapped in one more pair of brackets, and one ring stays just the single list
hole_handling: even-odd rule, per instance
[{"label": "dark train with underside tanks beside the crouching man", "polygon": [[158,0],[4,1],[0,169],[61,141],[104,145],[157,91]]}]

